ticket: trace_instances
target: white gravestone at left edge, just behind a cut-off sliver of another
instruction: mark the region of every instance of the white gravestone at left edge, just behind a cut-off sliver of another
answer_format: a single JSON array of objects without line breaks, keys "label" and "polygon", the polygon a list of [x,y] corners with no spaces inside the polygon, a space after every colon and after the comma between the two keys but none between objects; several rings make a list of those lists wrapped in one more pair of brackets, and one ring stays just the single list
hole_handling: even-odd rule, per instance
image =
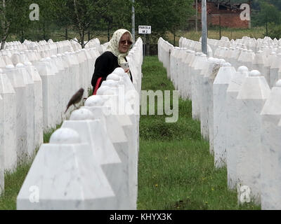
[{"label": "white gravestone at left edge, just behind a cut-off sliver of another", "polygon": [[[16,137],[16,95],[13,85],[0,69],[0,95],[3,98],[1,110],[3,112],[3,124],[0,125],[3,132],[1,150],[4,151],[4,167],[13,171],[17,165],[17,137]],[[3,148],[2,148],[3,147]]]}]

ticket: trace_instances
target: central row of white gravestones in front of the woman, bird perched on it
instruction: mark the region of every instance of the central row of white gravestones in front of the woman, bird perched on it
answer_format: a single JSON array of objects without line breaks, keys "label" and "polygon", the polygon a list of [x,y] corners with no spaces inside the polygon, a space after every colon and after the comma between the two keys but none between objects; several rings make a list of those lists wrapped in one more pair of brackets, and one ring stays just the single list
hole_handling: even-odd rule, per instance
[{"label": "central row of white gravestones in front of the woman, bird perched on it", "polygon": [[136,209],[139,95],[123,69],[107,76],[39,148],[17,209]]}]

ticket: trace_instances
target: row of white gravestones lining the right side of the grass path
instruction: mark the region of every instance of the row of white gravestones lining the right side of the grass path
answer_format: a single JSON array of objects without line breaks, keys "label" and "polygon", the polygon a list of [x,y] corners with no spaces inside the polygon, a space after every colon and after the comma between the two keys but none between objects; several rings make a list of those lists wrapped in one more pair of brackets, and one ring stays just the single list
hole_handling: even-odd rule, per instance
[{"label": "row of white gravestones lining the right side of the grass path", "polygon": [[[164,52],[164,48],[160,52]],[[197,82],[202,85],[201,89],[197,87],[199,94],[194,95],[196,92],[191,91],[191,99],[199,101],[201,132],[204,139],[209,138],[215,166],[227,167],[230,189],[249,186],[251,200],[261,204],[262,209],[281,209],[281,80],[270,90],[266,77],[259,71],[249,72],[246,66],[240,66],[236,71],[220,59],[209,57],[202,61],[202,54],[192,50],[185,52],[185,57],[192,55],[200,62],[198,69],[201,73],[196,71],[196,66],[190,65],[191,73],[196,73]],[[171,59],[174,66],[178,64],[176,60]],[[184,71],[190,72],[188,69]],[[203,83],[200,83],[203,74]],[[182,76],[189,75],[183,72],[173,77],[184,80]],[[212,77],[209,82],[207,77]],[[208,111],[209,116],[206,116]]]}]

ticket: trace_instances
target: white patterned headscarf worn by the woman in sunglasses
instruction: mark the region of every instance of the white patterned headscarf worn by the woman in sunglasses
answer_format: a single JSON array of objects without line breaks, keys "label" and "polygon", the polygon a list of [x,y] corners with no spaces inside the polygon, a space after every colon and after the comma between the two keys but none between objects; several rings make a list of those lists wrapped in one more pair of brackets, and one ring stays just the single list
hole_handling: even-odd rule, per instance
[{"label": "white patterned headscarf worn by the woman in sunglasses", "polygon": [[[126,29],[117,29],[117,31],[115,31],[115,33],[113,34],[113,36],[110,40],[110,44],[107,46],[107,51],[112,52],[113,55],[118,57],[119,65],[121,65],[121,63],[126,62],[125,57],[129,54],[129,50],[126,53],[119,52],[119,41],[120,41],[121,37],[123,36],[123,34],[125,34],[125,33],[129,33],[131,36],[131,40],[133,39],[133,36],[130,33],[130,31],[128,31]],[[130,48],[131,48],[131,46],[130,46]]]}]

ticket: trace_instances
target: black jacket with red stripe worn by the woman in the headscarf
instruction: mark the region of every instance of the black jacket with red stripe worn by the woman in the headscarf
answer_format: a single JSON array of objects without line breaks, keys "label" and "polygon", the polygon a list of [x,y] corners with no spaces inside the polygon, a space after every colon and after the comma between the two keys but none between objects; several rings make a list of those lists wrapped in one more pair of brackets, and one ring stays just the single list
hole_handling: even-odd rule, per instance
[{"label": "black jacket with red stripe worn by the woman in the headscarf", "polygon": [[[113,71],[115,71],[115,69],[118,67],[120,67],[118,64],[118,58],[115,55],[113,55],[112,52],[110,51],[103,52],[103,54],[96,59],[95,71],[93,72],[93,77],[91,80],[91,84],[93,86],[93,92],[95,91],[95,89],[97,90],[100,87],[103,80],[106,80],[107,76]],[[101,80],[98,82],[99,78],[101,78]],[[131,81],[133,82],[132,76],[131,76]]]}]

